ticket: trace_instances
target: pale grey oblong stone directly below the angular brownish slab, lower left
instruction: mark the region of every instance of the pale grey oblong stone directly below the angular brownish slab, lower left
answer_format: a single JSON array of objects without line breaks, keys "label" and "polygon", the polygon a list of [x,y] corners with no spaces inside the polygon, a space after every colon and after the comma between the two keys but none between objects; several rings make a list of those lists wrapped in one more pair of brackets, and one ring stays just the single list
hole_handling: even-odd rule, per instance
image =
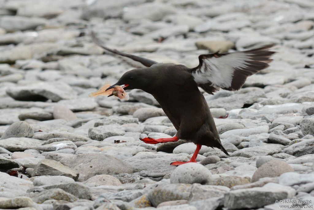
[{"label": "pale grey oblong stone directly below the angular brownish slab, lower left", "polygon": [[38,176],[33,180],[34,186],[65,184],[75,182],[74,179],[66,176]]}]

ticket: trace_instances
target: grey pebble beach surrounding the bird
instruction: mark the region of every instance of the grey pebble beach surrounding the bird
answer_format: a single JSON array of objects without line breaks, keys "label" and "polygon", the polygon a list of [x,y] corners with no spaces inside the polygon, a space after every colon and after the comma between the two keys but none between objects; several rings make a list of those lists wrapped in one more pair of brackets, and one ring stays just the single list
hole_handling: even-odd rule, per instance
[{"label": "grey pebble beach surrounding the bird", "polygon": [[[312,0],[0,0],[0,209],[314,209]],[[201,88],[227,156],[154,97],[89,97],[142,68],[273,44],[239,91]],[[166,90],[165,90],[166,91]]]}]

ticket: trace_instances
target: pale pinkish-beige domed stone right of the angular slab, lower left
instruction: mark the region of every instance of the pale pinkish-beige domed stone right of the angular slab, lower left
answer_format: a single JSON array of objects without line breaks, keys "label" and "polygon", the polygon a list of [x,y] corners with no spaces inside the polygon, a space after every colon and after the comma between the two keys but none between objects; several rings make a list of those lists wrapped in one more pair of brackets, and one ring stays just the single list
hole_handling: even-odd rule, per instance
[{"label": "pale pinkish-beige domed stone right of the angular slab, lower left", "polygon": [[84,184],[90,187],[97,187],[100,185],[120,186],[121,182],[116,177],[107,174],[100,174],[87,179]]}]

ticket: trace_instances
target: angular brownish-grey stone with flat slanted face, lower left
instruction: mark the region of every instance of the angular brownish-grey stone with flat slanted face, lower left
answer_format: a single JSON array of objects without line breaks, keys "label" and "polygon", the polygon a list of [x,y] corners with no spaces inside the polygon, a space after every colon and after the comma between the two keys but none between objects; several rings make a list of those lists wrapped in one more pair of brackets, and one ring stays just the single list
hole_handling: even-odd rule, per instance
[{"label": "angular brownish-grey stone with flat slanted face, lower left", "polygon": [[77,180],[79,174],[55,160],[42,160],[36,165],[32,174],[32,176],[38,175],[66,176]]}]

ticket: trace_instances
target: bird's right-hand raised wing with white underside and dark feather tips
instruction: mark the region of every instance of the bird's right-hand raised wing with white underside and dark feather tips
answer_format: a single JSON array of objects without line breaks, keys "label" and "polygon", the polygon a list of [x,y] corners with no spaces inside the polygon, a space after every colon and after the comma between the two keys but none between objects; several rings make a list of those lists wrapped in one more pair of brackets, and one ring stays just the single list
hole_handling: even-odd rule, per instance
[{"label": "bird's right-hand raised wing with white underside and dark feather tips", "polygon": [[268,67],[273,45],[235,53],[202,54],[199,65],[190,69],[195,82],[209,94],[219,90],[239,90],[246,78]]}]

